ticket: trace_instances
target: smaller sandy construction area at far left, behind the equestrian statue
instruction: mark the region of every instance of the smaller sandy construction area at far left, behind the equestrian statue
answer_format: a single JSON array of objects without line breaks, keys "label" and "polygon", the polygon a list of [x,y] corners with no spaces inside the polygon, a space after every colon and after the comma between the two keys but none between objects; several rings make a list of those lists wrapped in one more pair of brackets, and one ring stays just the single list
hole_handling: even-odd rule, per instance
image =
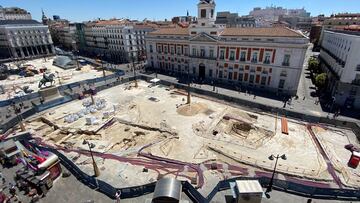
[{"label": "smaller sandy construction area at far left, behind the equestrian statue", "polygon": [[[0,70],[0,75],[5,76],[0,79],[0,101],[39,91],[38,84],[43,73],[54,75],[55,86],[103,76],[103,72],[91,64],[78,63],[76,69],[63,69],[53,65],[54,59],[55,57],[48,57],[5,64],[7,73]],[[106,71],[106,74],[110,72]]]}]

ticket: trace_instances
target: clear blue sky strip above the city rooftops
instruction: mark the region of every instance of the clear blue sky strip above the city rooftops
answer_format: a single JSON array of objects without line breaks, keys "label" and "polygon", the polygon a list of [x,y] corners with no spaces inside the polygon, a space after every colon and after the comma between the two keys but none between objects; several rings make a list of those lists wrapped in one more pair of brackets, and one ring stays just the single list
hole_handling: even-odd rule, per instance
[{"label": "clear blue sky strip above the city rooftops", "polygon": [[[31,12],[36,20],[41,18],[41,8],[47,16],[60,15],[71,21],[96,18],[125,17],[137,20],[171,19],[172,16],[196,15],[198,0],[0,0],[3,7],[18,6]],[[216,0],[217,11],[238,12],[246,15],[254,7],[270,5],[302,8],[318,14],[360,12],[360,0]]]}]

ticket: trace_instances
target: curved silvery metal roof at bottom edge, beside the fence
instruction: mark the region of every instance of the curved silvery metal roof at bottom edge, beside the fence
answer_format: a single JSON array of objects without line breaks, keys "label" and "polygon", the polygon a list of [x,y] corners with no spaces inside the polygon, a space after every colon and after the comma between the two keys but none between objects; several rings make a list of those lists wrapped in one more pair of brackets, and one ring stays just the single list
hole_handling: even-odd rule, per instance
[{"label": "curved silvery metal roof at bottom edge, beside the fence", "polygon": [[156,183],[153,200],[170,198],[180,201],[181,182],[174,178],[163,178]]}]

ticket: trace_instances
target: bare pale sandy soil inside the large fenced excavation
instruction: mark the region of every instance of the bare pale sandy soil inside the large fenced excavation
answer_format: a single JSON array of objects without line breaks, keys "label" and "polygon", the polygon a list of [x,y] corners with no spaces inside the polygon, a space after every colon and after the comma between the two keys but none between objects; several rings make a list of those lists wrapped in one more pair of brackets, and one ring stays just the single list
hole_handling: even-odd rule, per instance
[{"label": "bare pale sandy soil inside the large fenced excavation", "polygon": [[[37,118],[43,117],[56,124],[60,128],[57,131],[36,118],[28,126],[49,144],[86,149],[82,141],[87,139],[95,143],[94,151],[131,159],[139,158],[138,151],[145,147],[143,152],[187,163],[216,160],[269,171],[273,169],[274,162],[269,161],[268,156],[286,153],[288,159],[278,165],[280,172],[312,180],[331,180],[326,162],[305,123],[290,119],[289,135],[285,135],[281,133],[280,116],[248,112],[199,97],[192,97],[190,109],[185,105],[186,96],[168,87],[149,88],[144,81],[139,82],[138,88],[129,88],[132,85],[124,84],[98,93],[96,98],[105,99],[107,107],[92,115],[99,121],[96,126],[85,125],[85,118],[72,124],[64,123],[64,116],[78,112],[83,101],[70,102],[38,115]],[[116,106],[115,113],[103,119],[103,113],[113,106]],[[83,132],[99,129],[109,120],[114,121],[112,125],[96,133]],[[342,150],[338,151],[343,146],[334,145],[333,148],[336,148],[333,151],[337,156],[347,156],[342,155]],[[79,160],[82,159],[87,160],[88,157],[80,156]],[[76,163],[84,161],[79,160]],[[85,161],[80,166],[91,172],[90,163]],[[181,178],[187,177],[187,174],[194,176],[185,168],[167,171],[163,167],[158,171],[142,172],[143,167],[129,162],[99,159],[99,168],[102,167],[105,168],[102,179],[114,183],[119,180],[122,186],[151,182],[159,174],[178,174]],[[119,171],[127,178],[120,177]],[[207,169],[204,168],[204,171]],[[206,181],[229,177],[229,174],[206,172]]]}]

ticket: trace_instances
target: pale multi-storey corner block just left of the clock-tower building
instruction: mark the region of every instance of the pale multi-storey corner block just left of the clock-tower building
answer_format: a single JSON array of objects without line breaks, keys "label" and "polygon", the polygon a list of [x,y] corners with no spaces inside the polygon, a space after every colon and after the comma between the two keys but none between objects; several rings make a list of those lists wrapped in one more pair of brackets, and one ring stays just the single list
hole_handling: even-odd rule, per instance
[{"label": "pale multi-storey corner block just left of the clock-tower building", "polygon": [[153,30],[126,20],[90,22],[85,25],[87,50],[119,62],[129,62],[132,57],[136,61],[143,60],[146,56],[145,35]]}]

